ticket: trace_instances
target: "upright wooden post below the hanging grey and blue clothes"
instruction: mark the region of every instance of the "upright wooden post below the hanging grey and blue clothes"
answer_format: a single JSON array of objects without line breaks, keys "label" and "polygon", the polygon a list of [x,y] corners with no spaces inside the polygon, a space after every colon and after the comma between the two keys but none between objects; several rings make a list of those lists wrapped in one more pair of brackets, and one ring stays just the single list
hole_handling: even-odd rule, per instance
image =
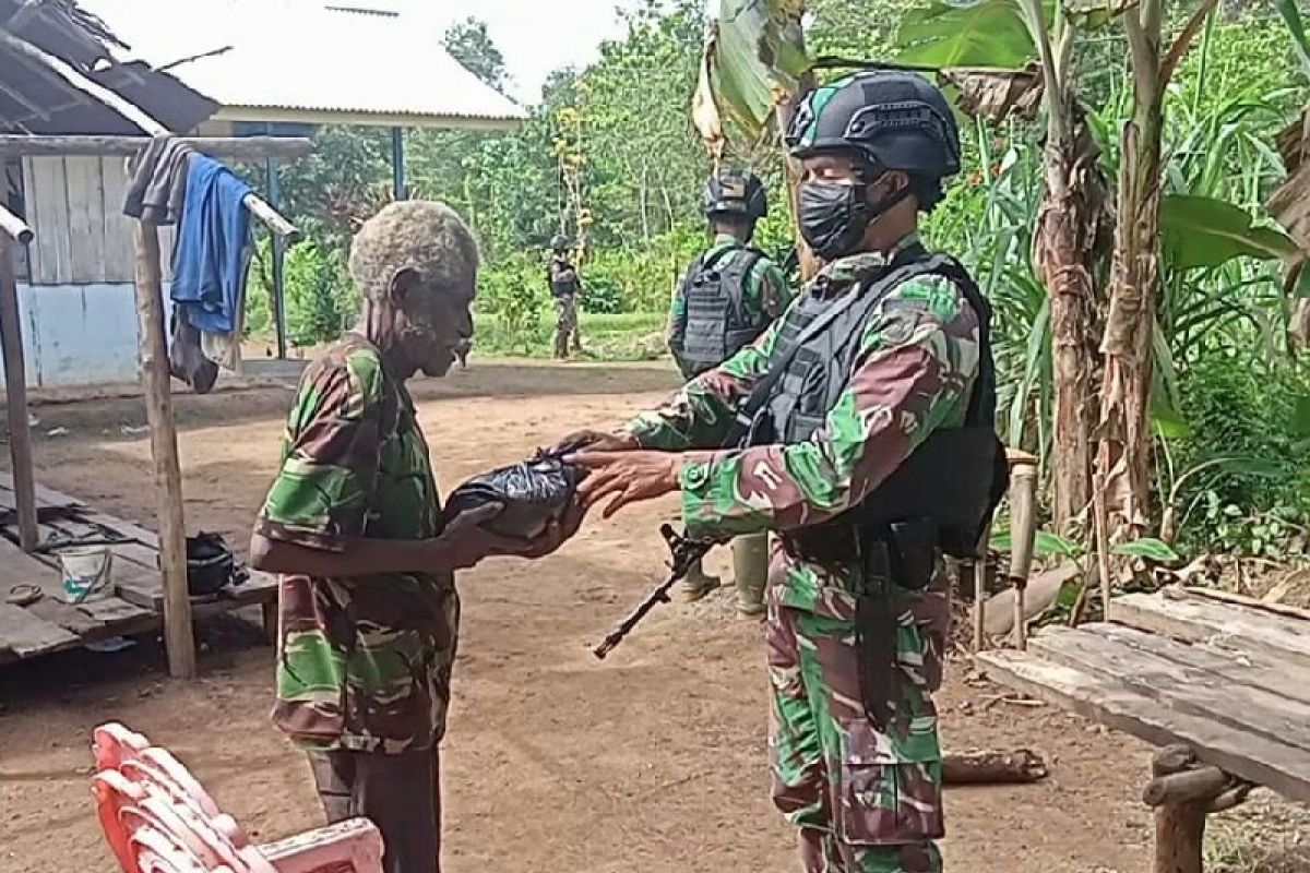
[{"label": "upright wooden post below the hanging grey and blue clothes", "polygon": [[159,228],[136,223],[136,313],[140,325],[141,383],[151,425],[151,458],[159,507],[160,571],[164,573],[164,641],[174,679],[195,677],[191,598],[186,585],[186,525],[182,469],[177,454],[173,394],[164,338],[164,291]]}]

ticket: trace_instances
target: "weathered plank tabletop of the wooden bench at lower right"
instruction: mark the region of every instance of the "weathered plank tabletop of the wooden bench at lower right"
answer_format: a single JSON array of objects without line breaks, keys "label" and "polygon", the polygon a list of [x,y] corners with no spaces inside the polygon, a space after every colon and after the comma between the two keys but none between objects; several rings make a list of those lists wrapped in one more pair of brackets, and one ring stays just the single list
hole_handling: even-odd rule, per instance
[{"label": "weathered plank tabletop of the wooden bench at lower right", "polygon": [[1002,685],[1310,802],[1310,613],[1171,588],[1112,601],[1110,618],[977,660]]}]

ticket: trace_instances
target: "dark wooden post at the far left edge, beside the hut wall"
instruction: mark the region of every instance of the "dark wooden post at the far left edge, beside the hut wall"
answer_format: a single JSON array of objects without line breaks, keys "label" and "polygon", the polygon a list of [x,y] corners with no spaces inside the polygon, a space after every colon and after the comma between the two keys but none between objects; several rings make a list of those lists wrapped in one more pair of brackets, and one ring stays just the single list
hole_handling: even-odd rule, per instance
[{"label": "dark wooden post at the far left edge, beside the hut wall", "polygon": [[22,361],[22,321],[18,283],[13,275],[13,245],[0,233],[0,339],[4,343],[4,391],[9,415],[9,458],[13,497],[18,510],[18,546],[31,552],[39,544],[37,487],[31,472],[31,432],[28,425],[28,368]]}]

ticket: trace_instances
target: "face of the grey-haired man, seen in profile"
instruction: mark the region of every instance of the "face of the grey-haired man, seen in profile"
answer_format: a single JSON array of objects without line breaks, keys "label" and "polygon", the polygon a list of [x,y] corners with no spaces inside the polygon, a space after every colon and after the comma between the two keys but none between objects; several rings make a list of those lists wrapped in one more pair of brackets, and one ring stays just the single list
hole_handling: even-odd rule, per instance
[{"label": "face of the grey-haired man, seen in profile", "polygon": [[403,270],[392,283],[397,304],[397,334],[406,360],[426,376],[445,376],[456,349],[473,336],[474,277],[460,287],[424,281]]}]

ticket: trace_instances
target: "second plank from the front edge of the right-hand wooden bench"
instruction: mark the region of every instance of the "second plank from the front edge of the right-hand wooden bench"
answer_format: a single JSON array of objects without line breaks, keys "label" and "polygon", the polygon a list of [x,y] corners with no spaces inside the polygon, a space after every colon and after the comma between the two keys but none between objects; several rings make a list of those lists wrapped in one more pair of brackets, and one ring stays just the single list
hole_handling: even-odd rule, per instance
[{"label": "second plank from the front edge of the right-hand wooden bench", "polygon": [[[1048,628],[1028,643],[1034,652],[1056,664],[1117,679],[1170,709],[1213,719],[1310,753],[1307,703],[1120,645],[1091,630]],[[1180,643],[1172,645],[1183,648]],[[1310,681],[1310,674],[1305,678]]]}]

